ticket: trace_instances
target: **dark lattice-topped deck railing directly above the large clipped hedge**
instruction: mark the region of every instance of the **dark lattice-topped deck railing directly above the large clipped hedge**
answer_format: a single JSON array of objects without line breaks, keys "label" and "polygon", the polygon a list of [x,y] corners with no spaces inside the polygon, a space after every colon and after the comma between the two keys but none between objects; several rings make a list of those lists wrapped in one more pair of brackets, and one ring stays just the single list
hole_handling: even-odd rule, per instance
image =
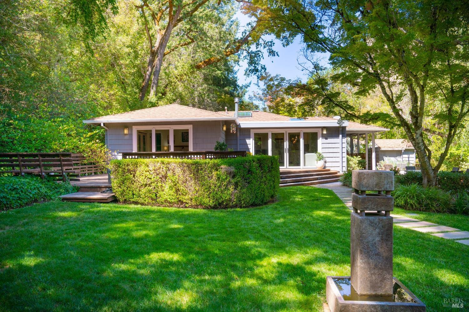
[{"label": "dark lattice-topped deck railing directly above the large clipped hedge", "polygon": [[122,159],[131,158],[182,158],[182,159],[219,159],[245,157],[245,151],[239,152],[129,152],[122,153]]}]

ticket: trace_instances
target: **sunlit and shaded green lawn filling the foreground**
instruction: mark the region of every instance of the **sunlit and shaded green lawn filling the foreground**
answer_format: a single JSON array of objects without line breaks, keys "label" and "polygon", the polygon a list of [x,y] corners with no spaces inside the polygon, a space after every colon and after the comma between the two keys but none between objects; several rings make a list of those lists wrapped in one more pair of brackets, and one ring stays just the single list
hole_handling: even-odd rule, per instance
[{"label": "sunlit and shaded green lawn filling the foreground", "polygon": [[[446,217],[436,223],[469,220]],[[349,218],[332,191],[311,187],[249,209],[10,210],[0,214],[0,311],[322,311],[325,276],[350,274]],[[469,299],[468,252],[394,227],[394,276],[427,311]]]}]

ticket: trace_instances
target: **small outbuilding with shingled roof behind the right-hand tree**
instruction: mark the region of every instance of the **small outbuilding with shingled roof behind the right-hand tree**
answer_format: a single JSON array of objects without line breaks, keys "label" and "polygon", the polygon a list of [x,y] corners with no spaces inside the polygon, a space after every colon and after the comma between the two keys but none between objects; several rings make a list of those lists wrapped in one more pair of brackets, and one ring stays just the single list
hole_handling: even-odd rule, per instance
[{"label": "small outbuilding with shingled roof behind the right-hand tree", "polygon": [[396,163],[415,164],[415,148],[412,144],[401,138],[376,139],[378,161],[392,160]]}]

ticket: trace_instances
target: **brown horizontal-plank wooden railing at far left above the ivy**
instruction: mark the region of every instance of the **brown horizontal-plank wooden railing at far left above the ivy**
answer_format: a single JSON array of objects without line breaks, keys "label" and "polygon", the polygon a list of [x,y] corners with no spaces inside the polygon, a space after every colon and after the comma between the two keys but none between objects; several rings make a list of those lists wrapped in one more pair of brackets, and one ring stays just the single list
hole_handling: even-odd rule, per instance
[{"label": "brown horizontal-plank wooden railing at far left above the ivy", "polygon": [[39,174],[61,177],[67,175],[106,173],[106,168],[88,161],[80,153],[0,153],[0,173]]}]

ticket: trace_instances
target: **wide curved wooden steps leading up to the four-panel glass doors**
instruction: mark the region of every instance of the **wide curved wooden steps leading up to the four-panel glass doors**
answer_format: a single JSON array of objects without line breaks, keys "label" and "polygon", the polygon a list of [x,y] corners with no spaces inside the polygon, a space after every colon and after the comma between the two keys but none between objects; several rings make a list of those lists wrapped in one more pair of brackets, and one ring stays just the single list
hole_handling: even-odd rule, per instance
[{"label": "wide curved wooden steps leading up to the four-panel glass doors", "polygon": [[316,185],[339,181],[338,171],[331,169],[282,169],[280,170],[280,187],[296,185]]}]

